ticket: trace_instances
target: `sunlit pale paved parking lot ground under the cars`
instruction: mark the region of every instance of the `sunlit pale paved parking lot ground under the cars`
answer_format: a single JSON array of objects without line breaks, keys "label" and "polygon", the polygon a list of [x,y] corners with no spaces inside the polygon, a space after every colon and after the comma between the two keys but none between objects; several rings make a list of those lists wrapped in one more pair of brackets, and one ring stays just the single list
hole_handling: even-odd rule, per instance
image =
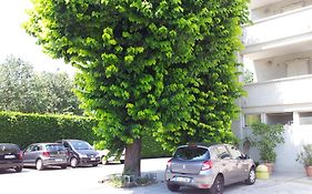
[{"label": "sunlit pale paved parking lot ground under the cars", "polygon": [[[67,170],[48,169],[37,171],[23,169],[21,173],[0,171],[1,193],[46,193],[46,194],[170,194],[163,182],[163,171],[168,159],[142,160],[143,173],[155,173],[158,183],[134,188],[113,188],[98,183],[113,173],[121,173],[122,164],[99,165]],[[183,187],[179,193],[204,194],[207,191]],[[304,174],[274,174],[270,180],[258,180],[254,185],[235,184],[227,186],[224,194],[311,194],[312,178]]]}]

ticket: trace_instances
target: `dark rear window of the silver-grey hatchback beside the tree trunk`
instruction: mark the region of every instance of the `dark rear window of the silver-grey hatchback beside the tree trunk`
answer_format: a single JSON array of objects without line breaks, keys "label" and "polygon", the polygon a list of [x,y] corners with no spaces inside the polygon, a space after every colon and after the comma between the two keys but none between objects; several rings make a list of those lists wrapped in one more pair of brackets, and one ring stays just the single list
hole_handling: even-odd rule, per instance
[{"label": "dark rear window of the silver-grey hatchback beside the tree trunk", "polygon": [[208,149],[198,146],[184,146],[177,150],[173,157],[189,161],[209,160]]}]

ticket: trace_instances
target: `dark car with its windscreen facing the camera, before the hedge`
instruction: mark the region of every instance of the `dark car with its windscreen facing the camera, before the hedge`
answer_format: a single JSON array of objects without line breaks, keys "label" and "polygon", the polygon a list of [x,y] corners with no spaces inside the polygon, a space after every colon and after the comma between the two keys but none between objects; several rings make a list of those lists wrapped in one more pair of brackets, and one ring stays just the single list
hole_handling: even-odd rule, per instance
[{"label": "dark car with its windscreen facing the camera, before the hedge", "polygon": [[61,140],[58,142],[62,143],[68,149],[68,160],[71,167],[77,167],[79,165],[97,166],[101,162],[99,153],[85,141]]}]

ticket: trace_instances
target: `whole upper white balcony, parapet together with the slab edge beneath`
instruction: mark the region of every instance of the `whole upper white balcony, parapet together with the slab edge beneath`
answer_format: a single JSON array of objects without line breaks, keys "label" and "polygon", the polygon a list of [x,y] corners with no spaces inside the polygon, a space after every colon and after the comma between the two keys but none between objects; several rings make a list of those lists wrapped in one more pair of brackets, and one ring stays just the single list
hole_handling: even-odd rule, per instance
[{"label": "whole upper white balcony, parapet together with the slab edge beneath", "polygon": [[312,20],[309,18],[312,18],[312,6],[254,21],[253,25],[244,28],[242,54],[261,59],[306,51],[312,42]]}]

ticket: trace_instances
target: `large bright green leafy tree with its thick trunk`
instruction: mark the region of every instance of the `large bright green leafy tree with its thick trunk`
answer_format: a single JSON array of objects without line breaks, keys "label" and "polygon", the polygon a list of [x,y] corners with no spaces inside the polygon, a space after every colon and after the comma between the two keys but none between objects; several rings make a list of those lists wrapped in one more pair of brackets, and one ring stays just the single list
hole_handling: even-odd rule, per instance
[{"label": "large bright green leafy tree with its thick trunk", "polygon": [[79,69],[103,145],[140,175],[143,133],[167,149],[232,136],[246,0],[33,0],[27,32]]}]

